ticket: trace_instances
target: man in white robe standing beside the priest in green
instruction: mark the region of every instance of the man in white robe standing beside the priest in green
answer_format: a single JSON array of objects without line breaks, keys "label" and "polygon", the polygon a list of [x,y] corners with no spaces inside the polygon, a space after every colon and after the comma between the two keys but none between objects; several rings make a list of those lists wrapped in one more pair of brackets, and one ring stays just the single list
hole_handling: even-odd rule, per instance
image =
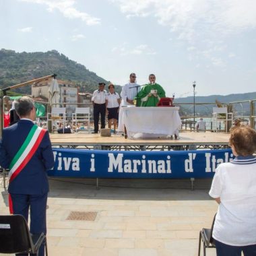
[{"label": "man in white robe standing beside the priest in green", "polygon": [[133,106],[133,99],[135,98],[135,96],[139,91],[140,91],[140,86],[136,83],[136,75],[135,73],[131,73],[129,83],[123,86],[120,94],[122,101],[119,108],[118,131],[121,131],[121,132],[125,131],[125,127],[123,123],[123,106]]}]

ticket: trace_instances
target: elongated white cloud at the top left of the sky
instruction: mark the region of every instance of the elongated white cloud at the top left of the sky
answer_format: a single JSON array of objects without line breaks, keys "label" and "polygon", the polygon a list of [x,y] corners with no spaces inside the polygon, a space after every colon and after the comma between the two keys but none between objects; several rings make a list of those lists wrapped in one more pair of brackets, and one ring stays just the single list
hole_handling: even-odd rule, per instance
[{"label": "elongated white cloud at the top left of the sky", "polygon": [[74,5],[75,1],[74,0],[20,0],[24,2],[29,2],[29,3],[38,3],[41,5],[46,5],[48,11],[54,11],[57,9],[60,11],[65,18],[69,19],[80,19],[88,26],[100,24],[100,19],[92,17],[90,14],[86,12],[82,12],[77,10]]}]

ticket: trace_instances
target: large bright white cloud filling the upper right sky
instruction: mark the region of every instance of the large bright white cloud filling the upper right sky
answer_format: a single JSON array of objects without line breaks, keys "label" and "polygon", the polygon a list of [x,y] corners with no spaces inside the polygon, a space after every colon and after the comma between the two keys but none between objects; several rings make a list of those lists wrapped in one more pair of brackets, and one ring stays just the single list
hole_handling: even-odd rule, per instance
[{"label": "large bright white cloud filling the upper right sky", "polygon": [[256,28],[255,0],[110,1],[128,18],[154,17],[158,24],[169,28],[169,40],[187,43],[189,59],[204,58],[219,67],[225,65],[220,55],[227,51],[226,38]]}]

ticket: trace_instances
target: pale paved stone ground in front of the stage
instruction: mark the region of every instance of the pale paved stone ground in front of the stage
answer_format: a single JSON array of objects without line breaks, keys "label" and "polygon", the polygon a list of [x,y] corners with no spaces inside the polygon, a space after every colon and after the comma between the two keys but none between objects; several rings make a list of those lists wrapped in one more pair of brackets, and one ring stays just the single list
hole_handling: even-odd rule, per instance
[{"label": "pale paved stone ground in front of the stage", "polygon": [[[1,214],[8,213],[1,183]],[[210,227],[217,203],[210,180],[50,179],[50,256],[193,256],[199,230]],[[71,211],[97,212],[94,221],[66,220]],[[201,252],[202,255],[202,252]],[[207,249],[207,255],[216,255]]]}]

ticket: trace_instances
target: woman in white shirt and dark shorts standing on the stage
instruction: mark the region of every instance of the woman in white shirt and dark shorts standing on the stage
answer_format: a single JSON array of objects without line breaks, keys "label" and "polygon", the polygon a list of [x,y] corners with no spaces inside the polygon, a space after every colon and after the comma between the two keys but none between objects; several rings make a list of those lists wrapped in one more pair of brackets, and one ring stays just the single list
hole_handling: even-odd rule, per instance
[{"label": "woman in white shirt and dark shorts standing on the stage", "polygon": [[115,86],[108,86],[109,92],[106,94],[106,114],[108,115],[108,128],[114,124],[114,133],[116,133],[117,120],[119,118],[120,96],[115,92]]}]

